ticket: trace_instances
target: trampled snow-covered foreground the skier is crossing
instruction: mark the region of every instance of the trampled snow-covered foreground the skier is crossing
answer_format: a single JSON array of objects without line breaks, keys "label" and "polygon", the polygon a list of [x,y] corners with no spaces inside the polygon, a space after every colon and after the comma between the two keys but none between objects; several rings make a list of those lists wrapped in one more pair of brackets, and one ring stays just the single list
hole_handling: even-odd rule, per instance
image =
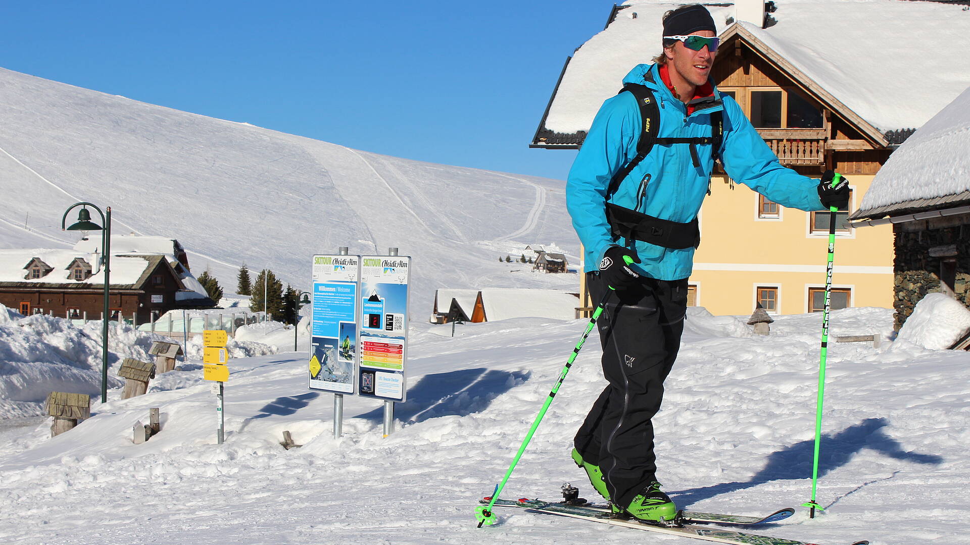
[{"label": "trampled snow-covered foreground the skier is crossing", "polygon": [[[767,337],[739,317],[688,318],[655,424],[661,478],[684,507],[763,513],[810,496],[819,314],[779,316]],[[78,429],[0,426],[0,542],[119,543],[692,543],[584,521],[499,511],[476,529],[491,493],[546,398],[584,321],[522,318],[412,322],[408,401],[381,435],[378,401],[346,397],[332,433],[330,394],[307,391],[305,354],[232,360],[226,441],[200,369],[173,371],[146,396],[92,404]],[[970,543],[970,354],[889,342],[891,311],[835,311],[832,335],[877,334],[829,351],[824,514],[804,509],[762,533],[822,544]],[[593,494],[568,458],[571,436],[604,385],[596,334],[506,486],[503,497]],[[154,384],[154,383],[153,383]],[[161,409],[145,444],[131,427]],[[26,426],[24,426],[26,425]],[[288,430],[302,448],[278,443]]]}]

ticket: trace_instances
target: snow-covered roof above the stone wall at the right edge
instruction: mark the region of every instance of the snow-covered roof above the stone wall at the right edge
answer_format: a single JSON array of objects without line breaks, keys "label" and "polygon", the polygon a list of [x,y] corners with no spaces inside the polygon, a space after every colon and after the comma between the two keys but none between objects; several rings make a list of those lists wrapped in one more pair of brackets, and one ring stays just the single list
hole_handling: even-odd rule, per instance
[{"label": "snow-covered roof above the stone wall at the right edge", "polygon": [[853,218],[968,201],[970,87],[889,155]]}]

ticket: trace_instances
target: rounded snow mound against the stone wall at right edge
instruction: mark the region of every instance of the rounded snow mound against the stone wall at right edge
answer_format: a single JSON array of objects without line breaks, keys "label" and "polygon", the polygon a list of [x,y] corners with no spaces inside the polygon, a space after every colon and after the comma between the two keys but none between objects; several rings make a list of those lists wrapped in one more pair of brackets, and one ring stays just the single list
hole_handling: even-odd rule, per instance
[{"label": "rounded snow mound against the stone wall at right edge", "polygon": [[897,340],[944,350],[970,331],[970,310],[942,293],[927,294],[899,330]]}]

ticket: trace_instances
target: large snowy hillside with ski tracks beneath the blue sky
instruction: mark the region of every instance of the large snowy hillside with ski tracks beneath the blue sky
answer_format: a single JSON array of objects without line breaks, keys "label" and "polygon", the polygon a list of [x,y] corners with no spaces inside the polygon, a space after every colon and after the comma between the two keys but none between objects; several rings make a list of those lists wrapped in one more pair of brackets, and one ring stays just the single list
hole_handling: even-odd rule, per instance
[{"label": "large snowy hillside with ski tracks beneath the blue sky", "polygon": [[74,245],[61,215],[89,201],[113,208],[114,234],[177,239],[194,272],[209,267],[230,290],[243,262],[306,289],[310,256],[339,246],[414,256],[419,315],[437,287],[578,283],[512,275],[496,259],[531,242],[578,254],[556,180],[357,151],[3,69],[0,119],[0,247]]}]

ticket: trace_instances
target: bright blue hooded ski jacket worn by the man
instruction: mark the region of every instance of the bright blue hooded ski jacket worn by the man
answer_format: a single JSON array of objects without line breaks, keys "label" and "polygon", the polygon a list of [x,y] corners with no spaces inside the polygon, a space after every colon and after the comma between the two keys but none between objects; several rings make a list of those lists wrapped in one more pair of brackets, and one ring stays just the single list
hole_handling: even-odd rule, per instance
[{"label": "bright blue hooded ski jacket worn by the man", "polygon": [[[788,208],[822,210],[818,179],[783,167],[771,148],[731,97],[714,89],[714,99],[688,115],[687,106],[663,84],[657,65],[640,64],[624,83],[649,87],[660,107],[659,138],[710,137],[710,113],[723,111],[724,138],[720,157],[727,176],[771,201]],[[603,102],[566,181],[566,208],[586,253],[585,271],[597,271],[599,260],[613,240],[606,222],[606,191],[613,174],[636,156],[640,110],[630,93]],[[689,144],[655,144],[620,183],[611,203],[655,217],[687,223],[697,216],[714,168],[712,145],[697,145],[700,167],[691,160]],[[695,248],[669,249],[636,241],[641,263],[638,272],[661,280],[691,275]]]}]

